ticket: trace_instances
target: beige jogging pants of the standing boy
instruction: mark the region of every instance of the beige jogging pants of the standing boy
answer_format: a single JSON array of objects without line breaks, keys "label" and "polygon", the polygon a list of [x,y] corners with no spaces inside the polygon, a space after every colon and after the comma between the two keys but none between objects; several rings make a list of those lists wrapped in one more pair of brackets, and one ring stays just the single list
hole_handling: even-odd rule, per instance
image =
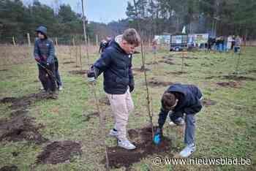
[{"label": "beige jogging pants of the standing boy", "polygon": [[118,140],[127,140],[129,113],[134,109],[129,88],[125,94],[107,94],[115,118]]}]

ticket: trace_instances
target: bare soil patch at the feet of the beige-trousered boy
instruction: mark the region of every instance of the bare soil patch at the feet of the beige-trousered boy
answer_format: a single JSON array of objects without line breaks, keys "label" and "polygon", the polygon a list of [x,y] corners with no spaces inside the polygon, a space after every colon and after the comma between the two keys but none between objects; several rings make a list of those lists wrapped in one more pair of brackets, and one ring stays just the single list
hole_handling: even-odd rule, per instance
[{"label": "bare soil patch at the feet of the beige-trousered boy", "polygon": [[[110,168],[112,169],[126,167],[126,169],[129,170],[132,164],[139,162],[141,159],[151,156],[154,153],[161,154],[168,152],[172,148],[171,140],[167,137],[163,137],[162,142],[159,145],[155,145],[154,142],[152,142],[151,127],[129,129],[128,134],[130,140],[135,144],[136,149],[128,151],[118,146],[109,147],[108,159]],[[103,160],[102,163],[105,163],[105,160]]]}]

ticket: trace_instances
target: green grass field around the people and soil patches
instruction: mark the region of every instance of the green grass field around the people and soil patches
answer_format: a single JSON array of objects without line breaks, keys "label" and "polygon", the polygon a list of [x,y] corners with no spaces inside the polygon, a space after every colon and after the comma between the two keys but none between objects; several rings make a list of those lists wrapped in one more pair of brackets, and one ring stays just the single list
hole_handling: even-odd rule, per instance
[{"label": "green grass field around the people and soil patches", "polygon": [[[23,97],[39,92],[38,70],[30,57],[30,47],[0,47],[0,99],[4,97]],[[64,91],[59,98],[42,99],[26,106],[26,116],[34,118],[32,124],[40,126],[39,134],[47,142],[35,143],[29,140],[1,140],[1,125],[13,118],[17,111],[12,103],[0,103],[0,168],[14,164],[19,170],[104,170],[102,160],[104,149],[99,142],[99,117],[96,112],[93,91],[84,75],[72,75],[72,70],[80,70],[75,63],[75,53],[70,59],[67,47],[59,47],[59,70],[64,83]],[[83,54],[86,54],[83,51]],[[168,86],[156,86],[158,82],[195,84],[203,91],[206,105],[197,114],[196,145],[197,151],[190,157],[195,158],[243,158],[252,159],[249,165],[209,165],[209,164],[161,164],[157,166],[153,159],[157,156],[172,158],[184,148],[182,128],[170,127],[165,123],[164,135],[170,138],[170,150],[152,153],[140,161],[119,166],[111,170],[256,170],[256,49],[246,47],[241,53],[239,74],[230,75],[236,69],[238,55],[233,53],[189,52],[184,58],[183,74],[181,55],[165,50],[153,54],[146,53],[148,81],[153,99],[154,124],[157,125],[160,98]],[[165,58],[163,58],[165,57]],[[90,53],[90,63],[99,58],[98,53]],[[173,64],[166,64],[170,58]],[[159,61],[158,64],[149,64]],[[140,54],[133,58],[133,67],[140,68]],[[83,55],[83,69],[86,58]],[[135,111],[129,116],[128,129],[140,129],[148,125],[146,108],[146,89],[143,72],[135,71],[135,91],[132,93]],[[222,83],[225,82],[225,83]],[[228,83],[227,83],[228,82]],[[219,84],[217,84],[219,83]],[[98,95],[104,97],[102,76],[97,81]],[[106,115],[106,130],[113,127],[113,114],[110,106],[102,104],[102,113]],[[12,115],[12,116],[11,116]],[[89,118],[91,116],[91,118]],[[167,122],[168,122],[167,118]],[[80,143],[81,155],[59,164],[36,164],[37,156],[46,145],[54,141],[72,140]],[[106,138],[108,147],[116,146],[116,140]]]}]

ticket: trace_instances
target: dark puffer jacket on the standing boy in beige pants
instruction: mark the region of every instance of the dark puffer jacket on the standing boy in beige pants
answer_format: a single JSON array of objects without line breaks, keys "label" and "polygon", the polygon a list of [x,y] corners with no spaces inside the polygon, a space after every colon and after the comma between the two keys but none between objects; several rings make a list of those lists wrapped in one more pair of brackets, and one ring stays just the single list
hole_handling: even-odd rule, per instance
[{"label": "dark puffer jacket on the standing boy in beige pants", "polygon": [[134,86],[132,55],[127,54],[115,40],[94,63],[94,70],[96,76],[103,72],[104,90],[108,94],[125,94],[128,86]]}]

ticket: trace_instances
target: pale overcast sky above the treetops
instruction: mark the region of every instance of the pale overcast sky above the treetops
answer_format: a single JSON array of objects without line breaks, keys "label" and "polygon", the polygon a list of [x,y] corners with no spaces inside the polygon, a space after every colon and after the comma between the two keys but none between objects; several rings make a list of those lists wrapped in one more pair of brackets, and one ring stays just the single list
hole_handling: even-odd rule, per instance
[{"label": "pale overcast sky above the treetops", "polygon": [[[39,0],[42,4],[53,6],[56,0]],[[59,0],[61,4],[69,4],[75,12],[81,12],[81,0]],[[127,18],[125,11],[127,1],[131,0],[83,0],[86,8],[86,17],[89,21],[109,23],[112,20]],[[24,4],[33,0],[23,0]]]}]

